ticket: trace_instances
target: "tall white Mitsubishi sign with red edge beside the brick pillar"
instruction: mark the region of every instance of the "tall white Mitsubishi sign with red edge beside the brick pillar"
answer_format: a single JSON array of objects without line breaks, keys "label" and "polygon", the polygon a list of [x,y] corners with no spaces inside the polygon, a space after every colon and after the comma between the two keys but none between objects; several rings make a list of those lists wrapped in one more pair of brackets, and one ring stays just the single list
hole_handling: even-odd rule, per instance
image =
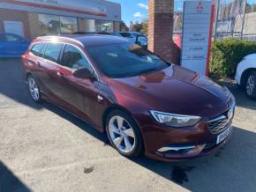
[{"label": "tall white Mitsubishi sign with red edge beside the brick pillar", "polygon": [[208,76],[214,5],[211,1],[185,1],[181,65]]}]

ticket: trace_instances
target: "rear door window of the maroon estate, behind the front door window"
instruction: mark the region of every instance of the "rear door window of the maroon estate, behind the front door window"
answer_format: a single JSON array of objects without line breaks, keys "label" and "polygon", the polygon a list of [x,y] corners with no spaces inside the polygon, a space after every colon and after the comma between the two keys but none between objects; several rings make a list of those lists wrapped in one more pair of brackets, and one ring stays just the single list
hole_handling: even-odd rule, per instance
[{"label": "rear door window of the maroon estate, behind the front door window", "polygon": [[62,43],[51,43],[49,42],[44,51],[44,58],[52,62],[57,62],[58,56],[63,48]]}]

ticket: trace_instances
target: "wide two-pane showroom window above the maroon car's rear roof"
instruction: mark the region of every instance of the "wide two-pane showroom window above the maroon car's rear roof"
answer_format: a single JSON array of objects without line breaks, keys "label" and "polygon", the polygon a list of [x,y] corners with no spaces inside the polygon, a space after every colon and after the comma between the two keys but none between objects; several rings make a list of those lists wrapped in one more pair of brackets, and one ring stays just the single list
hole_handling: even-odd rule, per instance
[{"label": "wide two-pane showroom window above the maroon car's rear roof", "polygon": [[77,18],[38,14],[42,35],[75,33],[78,31]]}]

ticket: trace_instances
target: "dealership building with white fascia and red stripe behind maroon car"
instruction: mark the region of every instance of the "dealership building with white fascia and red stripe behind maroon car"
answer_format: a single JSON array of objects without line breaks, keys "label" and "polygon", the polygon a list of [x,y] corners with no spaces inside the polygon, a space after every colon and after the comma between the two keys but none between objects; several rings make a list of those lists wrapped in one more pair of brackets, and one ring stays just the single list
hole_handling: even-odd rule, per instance
[{"label": "dealership building with white fascia and red stripe behind maroon car", "polygon": [[0,0],[0,33],[41,35],[119,31],[121,5],[104,0]]}]

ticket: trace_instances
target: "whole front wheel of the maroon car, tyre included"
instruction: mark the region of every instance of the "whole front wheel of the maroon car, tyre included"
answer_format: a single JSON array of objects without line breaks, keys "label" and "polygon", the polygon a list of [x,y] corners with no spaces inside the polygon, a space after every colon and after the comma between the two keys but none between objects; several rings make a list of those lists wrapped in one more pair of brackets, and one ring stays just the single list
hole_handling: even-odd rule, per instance
[{"label": "whole front wheel of the maroon car, tyre included", "polygon": [[128,158],[138,157],[142,151],[142,139],[132,117],[115,110],[107,118],[106,130],[110,144]]}]

